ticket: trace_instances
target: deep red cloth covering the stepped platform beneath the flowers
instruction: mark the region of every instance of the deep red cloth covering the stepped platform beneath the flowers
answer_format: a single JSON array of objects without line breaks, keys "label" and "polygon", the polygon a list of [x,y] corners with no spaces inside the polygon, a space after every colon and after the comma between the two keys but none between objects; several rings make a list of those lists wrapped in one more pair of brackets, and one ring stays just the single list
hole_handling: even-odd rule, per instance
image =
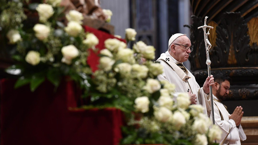
[{"label": "deep red cloth covering the stepped platform beneath the flowers", "polygon": [[[85,26],[104,49],[108,33]],[[121,40],[121,39],[120,39]],[[124,40],[123,40],[124,41]],[[125,41],[124,41],[125,42]],[[97,70],[98,53],[91,51],[88,64]],[[81,93],[73,82],[63,81],[54,92],[44,82],[35,92],[29,86],[14,89],[14,80],[2,79],[1,145],[116,145],[121,138],[122,113],[104,110],[74,110]]]}]

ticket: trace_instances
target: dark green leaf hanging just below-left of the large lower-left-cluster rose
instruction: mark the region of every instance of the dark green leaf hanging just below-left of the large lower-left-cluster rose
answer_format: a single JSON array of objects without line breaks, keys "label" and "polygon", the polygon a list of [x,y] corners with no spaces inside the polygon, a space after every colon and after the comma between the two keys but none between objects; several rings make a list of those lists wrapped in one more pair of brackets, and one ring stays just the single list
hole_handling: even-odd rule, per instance
[{"label": "dark green leaf hanging just below-left of the large lower-left-cluster rose", "polygon": [[47,71],[47,79],[56,87],[59,86],[61,81],[61,72],[58,68],[52,68]]}]

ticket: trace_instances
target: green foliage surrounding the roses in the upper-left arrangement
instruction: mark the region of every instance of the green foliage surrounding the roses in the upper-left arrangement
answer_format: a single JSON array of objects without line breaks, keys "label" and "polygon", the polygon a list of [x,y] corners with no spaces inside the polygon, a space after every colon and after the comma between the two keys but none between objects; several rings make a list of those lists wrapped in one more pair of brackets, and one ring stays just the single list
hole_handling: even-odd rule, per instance
[{"label": "green foliage surrounding the roses in the upper-left arrangement", "polygon": [[[7,35],[10,29],[16,29],[22,38],[22,41],[17,42],[16,52],[12,55],[17,64],[6,70],[9,74],[19,76],[15,88],[30,84],[31,91],[35,91],[45,80],[49,80],[57,88],[61,79],[64,76],[69,76],[80,85],[80,88],[85,91],[84,93],[87,93],[92,81],[90,80],[91,77],[88,76],[91,74],[91,69],[86,64],[88,48],[82,43],[86,33],[81,32],[77,37],[71,37],[64,32],[65,25],[58,21],[64,17],[64,13],[62,13],[64,8],[54,7],[55,13],[45,23],[51,31],[47,39],[39,40],[35,37],[33,30],[35,24],[25,23],[24,21],[27,19],[24,10],[37,13],[36,7],[39,3],[28,4],[26,0],[21,2],[1,0],[0,2],[3,4],[0,7],[0,26],[4,29],[2,34]],[[32,23],[34,22],[32,21]],[[71,65],[67,65],[61,62],[63,57],[61,48],[70,44],[75,45],[80,55],[72,60]],[[36,66],[32,66],[25,61],[27,53],[31,50],[40,53],[41,61]]]}]

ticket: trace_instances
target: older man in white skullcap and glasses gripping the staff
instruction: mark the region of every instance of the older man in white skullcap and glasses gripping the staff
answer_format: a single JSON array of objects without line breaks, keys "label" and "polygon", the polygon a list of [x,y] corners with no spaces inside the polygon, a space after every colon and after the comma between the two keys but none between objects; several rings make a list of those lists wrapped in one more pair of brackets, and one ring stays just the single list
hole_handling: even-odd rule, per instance
[{"label": "older man in white skullcap and glasses gripping the staff", "polygon": [[[163,74],[157,76],[159,80],[167,80],[176,85],[175,91],[178,93],[195,94],[195,104],[202,105],[204,113],[209,117],[211,114],[211,100],[209,94],[209,85],[214,85],[214,78],[207,78],[204,86],[200,88],[194,75],[183,66],[191,53],[191,41],[184,34],[174,34],[169,39],[169,50],[162,53],[156,62],[164,67]],[[172,56],[173,55],[173,56]],[[207,94],[208,93],[208,94]],[[190,96],[193,97],[193,96]],[[192,103],[193,104],[193,103]]]}]

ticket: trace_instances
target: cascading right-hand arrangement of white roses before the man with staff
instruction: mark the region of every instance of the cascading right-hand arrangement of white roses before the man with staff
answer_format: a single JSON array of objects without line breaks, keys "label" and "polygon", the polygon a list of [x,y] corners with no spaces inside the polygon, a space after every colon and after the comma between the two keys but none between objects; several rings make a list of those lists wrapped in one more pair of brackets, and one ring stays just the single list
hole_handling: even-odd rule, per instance
[{"label": "cascading right-hand arrangement of white roses before the man with staff", "polygon": [[[132,35],[128,33],[126,36]],[[99,70],[93,79],[96,89],[103,93],[93,95],[94,101],[109,98],[116,102],[120,98],[113,105],[129,112],[129,126],[123,127],[121,144],[207,145],[220,139],[220,128],[209,129],[212,124],[201,105],[190,105],[187,93],[175,93],[174,84],[157,80],[163,66],[152,62],[153,46],[142,41],[132,50],[125,46],[117,39],[105,41],[106,49],[101,50]]]}]

